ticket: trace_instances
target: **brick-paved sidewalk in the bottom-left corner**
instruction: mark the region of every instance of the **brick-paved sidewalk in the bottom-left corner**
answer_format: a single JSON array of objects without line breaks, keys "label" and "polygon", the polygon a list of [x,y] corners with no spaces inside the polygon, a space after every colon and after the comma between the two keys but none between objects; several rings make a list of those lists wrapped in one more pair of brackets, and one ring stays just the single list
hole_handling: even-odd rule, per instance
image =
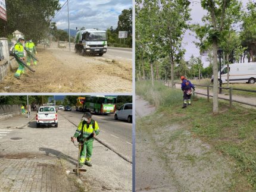
[{"label": "brick-paved sidewalk in the bottom-left corner", "polygon": [[0,158],[0,191],[77,191],[60,166]]}]

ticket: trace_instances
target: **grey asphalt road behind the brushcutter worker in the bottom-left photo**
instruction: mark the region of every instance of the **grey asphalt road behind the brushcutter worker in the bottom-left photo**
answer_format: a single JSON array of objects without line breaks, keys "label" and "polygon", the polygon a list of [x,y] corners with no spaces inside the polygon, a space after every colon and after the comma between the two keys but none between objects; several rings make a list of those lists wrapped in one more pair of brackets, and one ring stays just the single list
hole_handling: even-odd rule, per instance
[{"label": "grey asphalt road behind the brushcutter worker in the bottom-left photo", "polygon": [[[58,114],[78,125],[83,113],[79,111],[58,111]],[[115,120],[114,115],[93,115],[99,124],[99,140],[108,144],[115,152],[132,162],[132,124]]]}]

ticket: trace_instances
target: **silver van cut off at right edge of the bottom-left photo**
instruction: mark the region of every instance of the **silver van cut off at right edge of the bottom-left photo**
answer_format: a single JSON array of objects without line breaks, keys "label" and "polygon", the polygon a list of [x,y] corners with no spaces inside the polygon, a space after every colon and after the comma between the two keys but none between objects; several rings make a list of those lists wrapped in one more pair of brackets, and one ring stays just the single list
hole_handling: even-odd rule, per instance
[{"label": "silver van cut off at right edge of the bottom-left photo", "polygon": [[125,103],[115,111],[115,119],[124,119],[132,122],[132,103]]}]

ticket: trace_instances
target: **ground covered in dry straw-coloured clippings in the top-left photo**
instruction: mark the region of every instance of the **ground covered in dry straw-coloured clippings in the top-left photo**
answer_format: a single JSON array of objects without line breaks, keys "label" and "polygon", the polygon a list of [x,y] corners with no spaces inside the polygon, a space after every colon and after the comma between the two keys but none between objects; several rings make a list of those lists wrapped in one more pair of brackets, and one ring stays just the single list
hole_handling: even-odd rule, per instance
[{"label": "ground covered in dry straw-coloured clippings in the top-left photo", "polygon": [[10,71],[0,92],[90,93],[132,92],[132,62],[101,56],[82,56],[59,48],[38,48],[35,73],[26,69],[20,80]]}]

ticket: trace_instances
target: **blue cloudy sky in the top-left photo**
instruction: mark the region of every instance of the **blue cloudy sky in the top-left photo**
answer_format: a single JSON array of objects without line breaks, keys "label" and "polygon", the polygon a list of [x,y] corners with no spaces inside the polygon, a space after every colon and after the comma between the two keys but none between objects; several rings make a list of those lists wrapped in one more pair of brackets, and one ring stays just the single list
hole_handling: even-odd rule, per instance
[{"label": "blue cloudy sky in the top-left photo", "polygon": [[[66,0],[60,0],[61,6]],[[70,29],[85,27],[86,29],[105,30],[117,27],[118,15],[124,9],[132,7],[132,0],[68,0]],[[58,29],[68,29],[67,4],[55,18]]]}]

